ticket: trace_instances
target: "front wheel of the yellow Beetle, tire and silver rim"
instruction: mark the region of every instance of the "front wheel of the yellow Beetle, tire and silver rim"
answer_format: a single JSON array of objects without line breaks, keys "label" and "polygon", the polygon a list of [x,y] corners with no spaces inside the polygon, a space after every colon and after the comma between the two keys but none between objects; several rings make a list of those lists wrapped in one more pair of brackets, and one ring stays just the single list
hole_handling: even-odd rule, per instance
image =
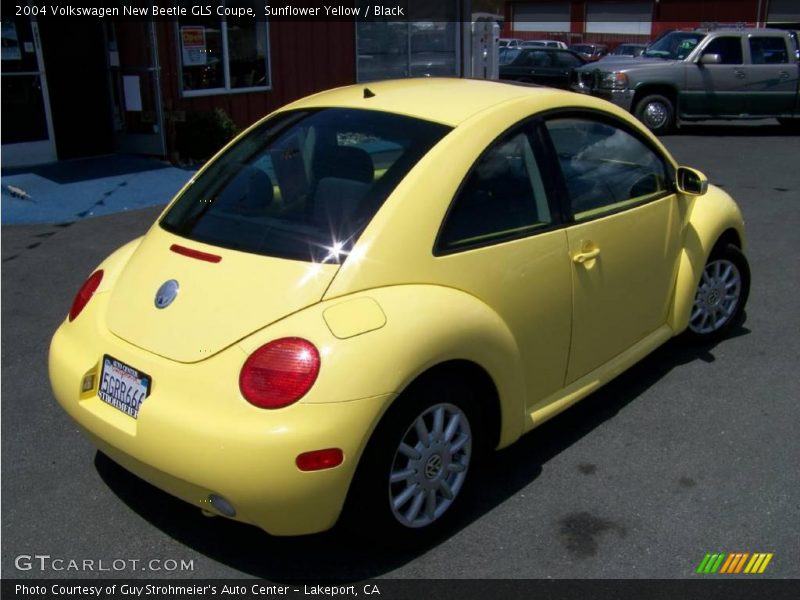
[{"label": "front wheel of the yellow Beetle, tire and silver rim", "polygon": [[750,267],[733,244],[711,252],[695,291],[683,339],[693,345],[715,342],[739,324],[750,294]]}]

